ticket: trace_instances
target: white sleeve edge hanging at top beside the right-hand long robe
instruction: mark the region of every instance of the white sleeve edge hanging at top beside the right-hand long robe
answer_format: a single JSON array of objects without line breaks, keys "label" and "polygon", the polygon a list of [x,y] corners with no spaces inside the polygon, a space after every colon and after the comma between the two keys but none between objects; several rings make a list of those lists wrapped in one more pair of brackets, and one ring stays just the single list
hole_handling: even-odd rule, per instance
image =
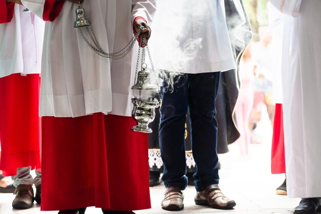
[{"label": "white sleeve edge hanging at top beside the right-hand long robe", "polygon": [[280,12],[296,17],[302,0],[270,0],[270,3]]}]

